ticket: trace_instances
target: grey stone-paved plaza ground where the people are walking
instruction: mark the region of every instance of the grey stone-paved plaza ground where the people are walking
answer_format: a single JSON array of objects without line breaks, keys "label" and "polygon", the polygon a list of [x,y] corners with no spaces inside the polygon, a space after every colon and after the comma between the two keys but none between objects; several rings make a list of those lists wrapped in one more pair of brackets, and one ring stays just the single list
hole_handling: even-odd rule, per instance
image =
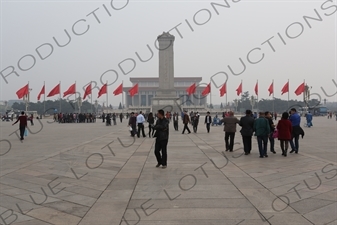
[{"label": "grey stone-paved plaza ground where the people are walking", "polygon": [[225,152],[223,126],[208,134],[200,121],[197,134],[170,124],[166,169],[155,168],[155,139],[130,137],[126,120],[35,120],[23,143],[0,122],[0,224],[337,224],[335,119],[314,117],[299,154],[281,156],[276,141],[262,159],[256,139],[246,156],[237,132]]}]

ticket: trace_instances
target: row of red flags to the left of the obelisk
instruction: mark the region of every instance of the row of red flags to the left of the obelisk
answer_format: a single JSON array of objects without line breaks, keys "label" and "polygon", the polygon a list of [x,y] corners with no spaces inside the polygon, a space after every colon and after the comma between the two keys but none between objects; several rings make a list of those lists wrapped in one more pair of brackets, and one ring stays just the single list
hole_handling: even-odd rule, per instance
[{"label": "row of red flags to the left of the obelisk", "polygon": [[[99,92],[98,92],[98,97],[101,97],[104,94],[107,94],[108,92],[108,85],[104,84]],[[74,83],[73,85],[71,85],[65,92],[63,92],[63,98],[68,96],[68,95],[72,95],[76,93],[76,83]],[[121,83],[114,91],[113,94],[119,95],[123,93],[123,83]],[[132,88],[129,89],[129,94],[131,96],[134,96],[135,94],[138,93],[138,84],[134,85]],[[24,87],[20,88],[17,92],[16,95],[18,96],[19,99],[23,98],[24,96],[29,94],[29,84],[25,85]],[[43,85],[40,93],[37,96],[37,100],[40,100],[41,95],[45,95],[46,94],[46,90],[45,90],[45,85]],[[52,97],[54,95],[58,95],[61,94],[61,84],[56,85],[47,95],[47,97]],[[91,87],[91,83],[85,88],[84,91],[84,95],[83,95],[83,100],[88,96],[92,94],[92,87]]]}]

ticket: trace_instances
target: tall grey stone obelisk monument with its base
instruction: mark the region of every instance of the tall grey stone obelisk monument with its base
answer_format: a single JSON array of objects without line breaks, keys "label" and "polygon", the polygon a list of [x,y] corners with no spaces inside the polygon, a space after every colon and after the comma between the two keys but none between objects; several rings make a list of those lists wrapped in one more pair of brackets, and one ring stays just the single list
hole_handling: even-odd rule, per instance
[{"label": "tall grey stone obelisk monument with its base", "polygon": [[174,36],[168,32],[157,37],[159,43],[159,87],[156,96],[152,98],[152,112],[179,112],[180,100],[174,89]]}]

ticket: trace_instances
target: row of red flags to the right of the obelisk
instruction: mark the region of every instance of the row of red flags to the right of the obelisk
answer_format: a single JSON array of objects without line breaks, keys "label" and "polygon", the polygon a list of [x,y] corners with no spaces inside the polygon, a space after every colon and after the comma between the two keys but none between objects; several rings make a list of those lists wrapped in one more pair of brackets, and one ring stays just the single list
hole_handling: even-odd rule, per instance
[{"label": "row of red flags to the right of the obelisk", "polygon": [[[192,84],[190,87],[188,87],[186,89],[186,92],[188,95],[191,95],[191,94],[194,94],[196,92],[196,84]],[[300,95],[304,92],[305,90],[305,84],[304,82],[302,84],[300,84],[300,86],[298,86],[295,90],[295,94],[296,95]],[[227,94],[227,82],[224,83],[222,85],[222,87],[220,88],[220,97],[224,96],[225,94]],[[236,94],[239,96],[240,94],[242,94],[242,81],[239,85],[239,87],[235,90],[236,91]],[[259,95],[259,84],[258,82],[256,82],[256,85],[255,85],[255,88],[254,88],[254,91],[255,91],[255,94],[256,95]],[[269,91],[269,96],[271,94],[274,93],[274,82],[272,82],[268,88],[268,91]],[[289,92],[289,81],[283,86],[282,90],[281,90],[281,95],[283,95],[284,93],[287,93]],[[211,93],[211,83],[209,83],[205,88],[204,90],[202,91],[202,96],[206,96],[208,95],[209,93]]]}]

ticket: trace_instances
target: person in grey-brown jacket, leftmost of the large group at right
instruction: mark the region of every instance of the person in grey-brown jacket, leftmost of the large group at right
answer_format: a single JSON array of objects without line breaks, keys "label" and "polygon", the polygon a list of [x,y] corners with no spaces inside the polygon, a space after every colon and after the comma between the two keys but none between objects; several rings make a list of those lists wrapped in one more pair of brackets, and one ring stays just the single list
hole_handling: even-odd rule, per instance
[{"label": "person in grey-brown jacket, leftmost of the large group at right", "polygon": [[239,123],[240,121],[238,120],[238,118],[234,116],[234,112],[230,111],[229,116],[223,118],[222,122],[225,126],[224,131],[225,131],[226,151],[233,152],[236,124]]}]

